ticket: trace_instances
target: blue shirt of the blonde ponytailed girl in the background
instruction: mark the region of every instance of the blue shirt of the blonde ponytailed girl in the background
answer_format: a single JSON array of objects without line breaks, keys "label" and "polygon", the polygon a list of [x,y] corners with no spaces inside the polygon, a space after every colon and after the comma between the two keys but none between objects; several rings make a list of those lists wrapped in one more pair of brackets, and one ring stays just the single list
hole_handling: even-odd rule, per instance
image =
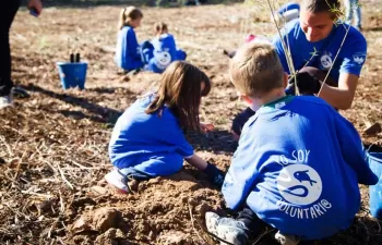
[{"label": "blue shirt of the blonde ponytailed girl in the background", "polygon": [[124,26],[118,33],[116,63],[126,71],[143,66],[141,48],[138,44],[134,28]]}]

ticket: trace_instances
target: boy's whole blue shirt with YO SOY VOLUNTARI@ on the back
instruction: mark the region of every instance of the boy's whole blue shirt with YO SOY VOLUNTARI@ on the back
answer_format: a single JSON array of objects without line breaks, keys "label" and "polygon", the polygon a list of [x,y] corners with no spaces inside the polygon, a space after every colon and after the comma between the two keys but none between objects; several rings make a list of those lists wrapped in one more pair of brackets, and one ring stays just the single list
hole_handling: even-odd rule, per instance
[{"label": "boy's whole blue shirt with YO SOY VOLUNTARI@ on the back", "polygon": [[351,224],[358,183],[378,182],[365,158],[353,124],[324,100],[285,97],[244,124],[222,192],[284,234],[322,238]]}]

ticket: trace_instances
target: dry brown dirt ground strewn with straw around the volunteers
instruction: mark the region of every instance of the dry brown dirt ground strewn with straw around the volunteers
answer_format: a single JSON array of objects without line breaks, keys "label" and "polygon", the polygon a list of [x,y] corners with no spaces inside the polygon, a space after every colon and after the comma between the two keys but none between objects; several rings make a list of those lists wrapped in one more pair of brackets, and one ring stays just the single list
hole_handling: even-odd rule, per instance
[{"label": "dry brown dirt ground strewn with straw around the volunteers", "polygon": [[[360,133],[382,123],[382,5],[363,3],[368,58],[353,108],[342,111]],[[204,229],[204,213],[225,213],[218,189],[186,168],[169,177],[134,183],[134,194],[115,195],[103,176],[111,169],[107,144],[112,123],[158,75],[124,76],[115,66],[116,26],[121,7],[47,8],[40,17],[21,10],[11,30],[13,77],[31,97],[0,111],[0,244],[217,244]],[[188,60],[212,78],[203,121],[216,131],[190,135],[198,152],[227,170],[236,144],[228,130],[243,109],[227,76],[223,49],[241,44],[246,29],[275,34],[262,9],[243,5],[143,8],[139,40],[152,37],[156,21],[168,23]],[[251,20],[251,21],[243,21]],[[252,23],[252,20],[256,21]],[[248,24],[244,24],[248,23]],[[88,62],[86,89],[63,90],[56,62],[80,51]],[[382,145],[382,134],[362,134]],[[324,245],[380,245],[381,222],[362,209],[348,230],[318,241]],[[270,230],[253,244],[274,244]]]}]

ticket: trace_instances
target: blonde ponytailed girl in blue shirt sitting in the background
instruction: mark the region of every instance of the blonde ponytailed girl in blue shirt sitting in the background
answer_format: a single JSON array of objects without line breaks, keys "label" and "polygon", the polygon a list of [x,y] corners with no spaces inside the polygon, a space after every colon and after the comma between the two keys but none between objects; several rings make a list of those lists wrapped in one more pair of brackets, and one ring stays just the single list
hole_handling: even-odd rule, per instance
[{"label": "blonde ponytailed girl in blue shirt sitting in the background", "polygon": [[126,72],[143,68],[141,47],[138,44],[134,28],[141,25],[143,14],[135,7],[121,10],[118,23],[116,63]]}]

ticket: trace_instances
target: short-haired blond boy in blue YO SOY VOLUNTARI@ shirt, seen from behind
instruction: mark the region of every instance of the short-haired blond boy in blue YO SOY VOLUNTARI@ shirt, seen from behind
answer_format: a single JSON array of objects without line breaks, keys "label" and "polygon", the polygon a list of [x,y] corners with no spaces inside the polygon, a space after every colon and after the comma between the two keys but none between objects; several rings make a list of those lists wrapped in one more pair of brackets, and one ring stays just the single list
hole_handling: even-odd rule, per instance
[{"label": "short-haired blond boy in blue YO SOY VOLUNTARI@ shirt, seen from behind", "polygon": [[256,113],[244,124],[223,184],[235,219],[206,213],[207,229],[244,244],[263,222],[284,245],[348,228],[360,208],[358,183],[378,177],[355,127],[323,99],[286,96],[288,76],[270,44],[242,46],[229,68],[241,98]]}]

